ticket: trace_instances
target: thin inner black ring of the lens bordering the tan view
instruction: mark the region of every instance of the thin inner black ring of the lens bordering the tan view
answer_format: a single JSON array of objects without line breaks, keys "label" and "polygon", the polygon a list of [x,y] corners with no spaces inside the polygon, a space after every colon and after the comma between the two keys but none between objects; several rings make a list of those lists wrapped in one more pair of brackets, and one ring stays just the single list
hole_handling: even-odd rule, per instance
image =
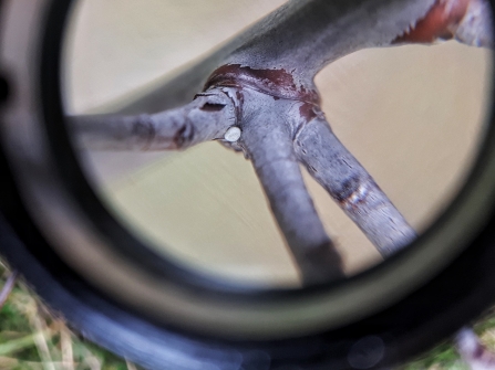
[{"label": "thin inner black ring of the lens bordering the tan view", "polygon": [[[396,258],[405,257],[409,253],[408,250],[413,249],[401,251],[401,253],[398,253],[384,263],[344,282],[323,284],[321,286],[305,289],[258,290],[249,289],[247,287],[239,288],[238,285],[221,282],[214,277],[204,276],[200,273],[183,268],[182,266],[167,261],[162,255],[154,252],[153,249],[146,246],[112,215],[112,212],[105,208],[103,202],[99,199],[99,195],[92,189],[80,166],[80,160],[71,142],[70,131],[65,125],[60,74],[62,61],[61,51],[63,47],[65,23],[75,2],[76,1],[74,0],[68,0],[60,3],[54,1],[51,10],[48,12],[47,32],[43,42],[41,43],[42,50],[40,52],[40,96],[42,112],[58,172],[62,177],[66,190],[78,202],[78,207],[90,215],[89,219],[92,221],[93,226],[99,230],[106,240],[112,241],[111,246],[116,252],[123,254],[128,261],[142,265],[147,272],[154,274],[158,278],[176,282],[177,285],[193,292],[200,290],[205,296],[210,296],[213,298],[227,297],[231,299],[266,300],[283,299],[285,297],[302,298],[307,294],[340,287],[349,281],[367,278],[367,275],[373,274],[375,271],[393,264]],[[53,83],[54,81],[58,83]],[[442,226],[448,213],[455,212],[457,199],[470,191],[470,182],[473,182],[472,179],[478,177],[478,172],[483,170],[484,158],[491,156],[494,151],[493,146],[491,145],[492,142],[495,142],[494,116],[492,115],[491,118],[492,125],[486,131],[486,137],[478,155],[477,165],[474,166],[466,184],[444,214],[440,216],[435,224],[421,235],[414,244],[421,244],[422,240],[426,239],[429,233],[433,232],[436,228]]]}]

